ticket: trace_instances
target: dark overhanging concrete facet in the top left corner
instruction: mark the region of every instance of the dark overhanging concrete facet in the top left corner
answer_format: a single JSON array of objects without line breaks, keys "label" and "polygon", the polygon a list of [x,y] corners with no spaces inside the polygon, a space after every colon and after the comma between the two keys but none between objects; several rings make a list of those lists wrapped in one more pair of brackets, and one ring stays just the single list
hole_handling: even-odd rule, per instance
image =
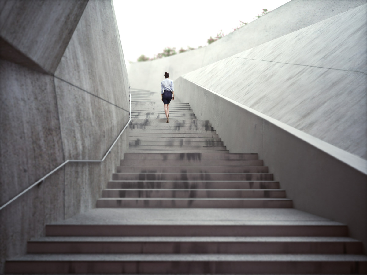
[{"label": "dark overhanging concrete facet in the top left corner", "polygon": [[0,44],[0,57],[53,74],[87,3],[2,0],[0,37],[6,43]]}]

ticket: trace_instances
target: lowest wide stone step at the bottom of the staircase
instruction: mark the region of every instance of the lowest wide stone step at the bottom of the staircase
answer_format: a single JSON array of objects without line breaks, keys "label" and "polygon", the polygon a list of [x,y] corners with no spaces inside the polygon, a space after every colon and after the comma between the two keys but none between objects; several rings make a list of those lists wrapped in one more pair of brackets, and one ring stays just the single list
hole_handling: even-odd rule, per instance
[{"label": "lowest wide stone step at the bottom of the staircase", "polygon": [[28,254],[6,273],[367,274],[355,254]]}]

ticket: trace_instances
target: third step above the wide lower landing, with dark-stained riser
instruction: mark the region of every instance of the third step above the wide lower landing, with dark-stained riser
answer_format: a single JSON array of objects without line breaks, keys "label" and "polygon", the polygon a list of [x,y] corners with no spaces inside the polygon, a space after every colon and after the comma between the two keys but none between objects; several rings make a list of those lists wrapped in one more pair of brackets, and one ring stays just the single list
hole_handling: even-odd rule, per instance
[{"label": "third step above the wide lower landing, with dark-stained riser", "polygon": [[161,181],[161,180],[110,180],[107,188],[198,188],[198,189],[279,189],[279,181]]}]

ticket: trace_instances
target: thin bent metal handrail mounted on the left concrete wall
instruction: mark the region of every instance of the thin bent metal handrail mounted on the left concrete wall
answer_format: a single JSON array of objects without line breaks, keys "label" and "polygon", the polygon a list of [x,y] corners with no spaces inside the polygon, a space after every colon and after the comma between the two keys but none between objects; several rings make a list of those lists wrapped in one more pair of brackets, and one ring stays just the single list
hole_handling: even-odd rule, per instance
[{"label": "thin bent metal handrail mounted on the left concrete wall", "polygon": [[24,193],[26,193],[28,190],[32,189],[37,184],[41,183],[44,179],[46,179],[48,176],[52,175],[54,172],[56,172],[58,169],[60,169],[62,166],[64,166],[68,162],[103,162],[105,160],[105,158],[107,157],[107,155],[111,152],[112,147],[116,144],[116,142],[120,138],[121,134],[126,129],[127,125],[129,125],[129,123],[131,122],[131,88],[130,88],[130,83],[129,83],[129,102],[130,102],[129,121],[127,122],[127,124],[125,125],[125,127],[122,129],[122,131],[120,132],[120,134],[116,137],[115,142],[112,143],[112,145],[110,146],[110,148],[107,150],[107,153],[103,156],[103,158],[101,160],[99,160],[99,159],[68,159],[67,161],[65,161],[62,164],[60,164],[59,166],[57,166],[54,170],[52,170],[46,176],[41,177],[41,179],[37,180],[35,183],[33,183],[31,186],[29,186],[26,190],[24,190],[21,193],[19,193],[18,195],[16,195],[10,201],[8,201],[7,203],[5,203],[4,205],[1,205],[0,206],[0,210],[3,209],[3,208],[5,208],[11,202],[15,201],[17,198],[19,198],[21,195],[23,195]]}]

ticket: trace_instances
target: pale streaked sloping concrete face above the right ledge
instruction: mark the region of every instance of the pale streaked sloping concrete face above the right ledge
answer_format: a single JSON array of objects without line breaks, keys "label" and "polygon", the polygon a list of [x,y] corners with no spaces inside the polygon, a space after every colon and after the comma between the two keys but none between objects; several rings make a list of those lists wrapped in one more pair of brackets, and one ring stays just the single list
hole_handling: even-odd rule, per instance
[{"label": "pale streaked sloping concrete face above the right ledge", "polygon": [[366,13],[367,4],[184,77],[367,159]]}]

